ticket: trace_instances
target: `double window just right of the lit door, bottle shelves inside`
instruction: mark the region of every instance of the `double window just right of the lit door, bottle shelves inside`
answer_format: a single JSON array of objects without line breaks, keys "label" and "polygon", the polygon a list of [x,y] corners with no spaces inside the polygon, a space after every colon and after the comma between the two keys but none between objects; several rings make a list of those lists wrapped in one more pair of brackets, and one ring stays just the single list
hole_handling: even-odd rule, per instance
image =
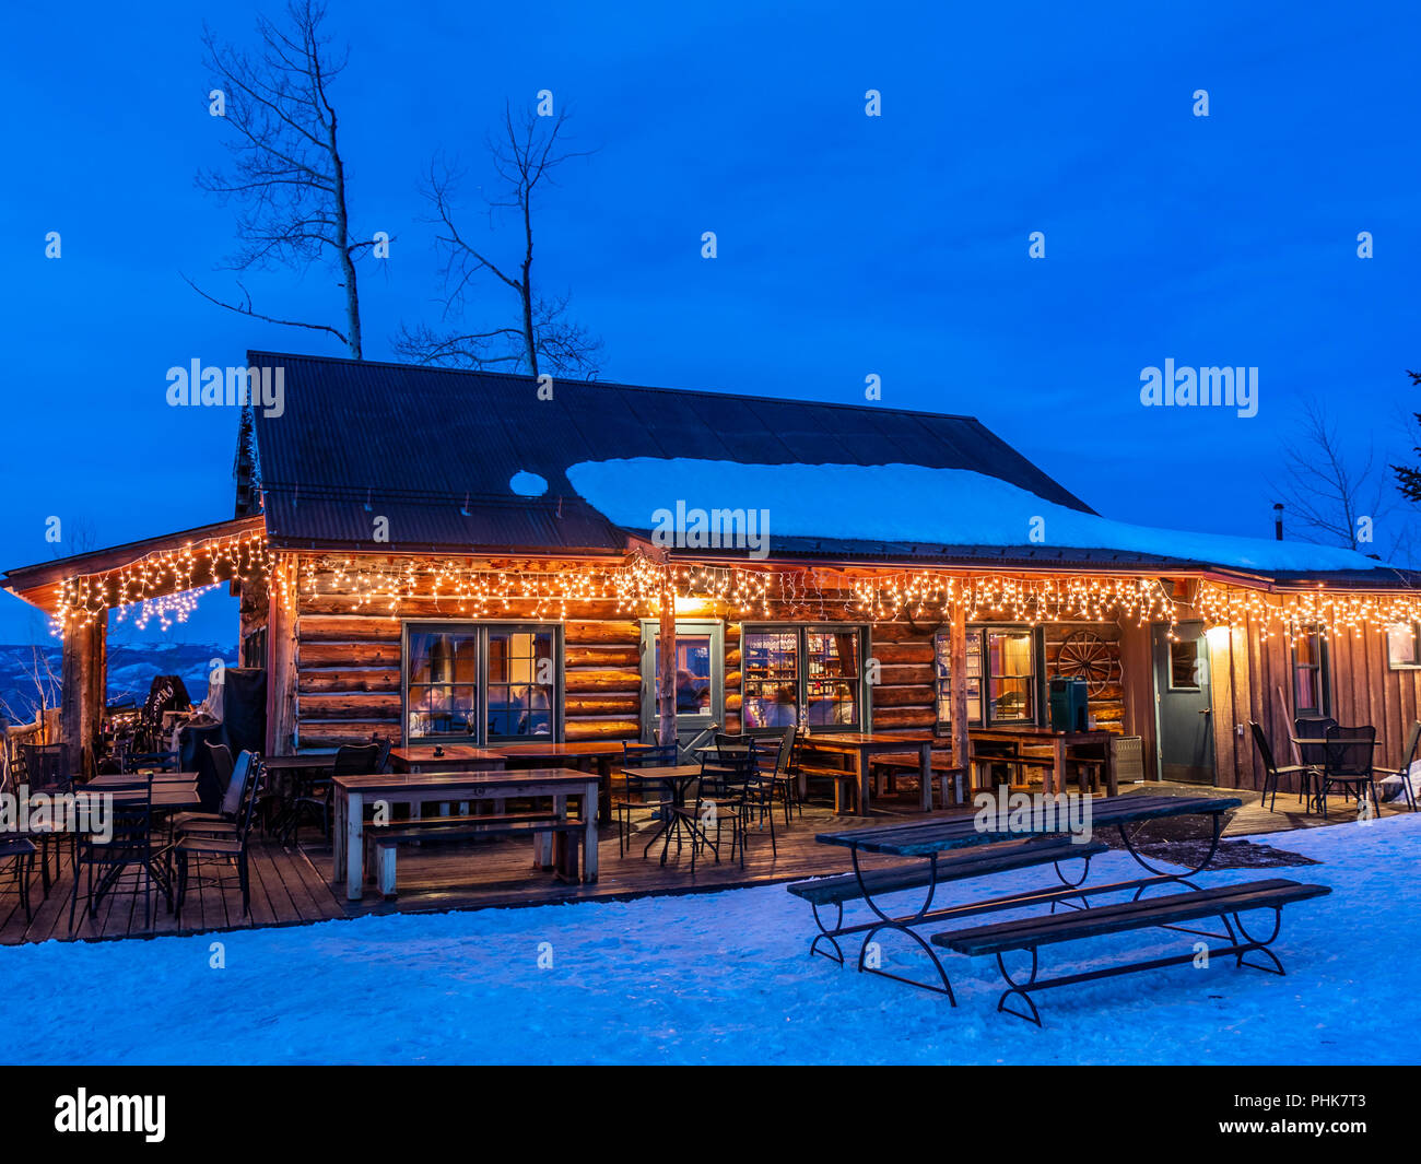
[{"label": "double window just right of the lit door, bottle shelves inside", "polygon": [[745,728],[804,722],[857,731],[863,722],[863,630],[746,630],[740,652]]}]

